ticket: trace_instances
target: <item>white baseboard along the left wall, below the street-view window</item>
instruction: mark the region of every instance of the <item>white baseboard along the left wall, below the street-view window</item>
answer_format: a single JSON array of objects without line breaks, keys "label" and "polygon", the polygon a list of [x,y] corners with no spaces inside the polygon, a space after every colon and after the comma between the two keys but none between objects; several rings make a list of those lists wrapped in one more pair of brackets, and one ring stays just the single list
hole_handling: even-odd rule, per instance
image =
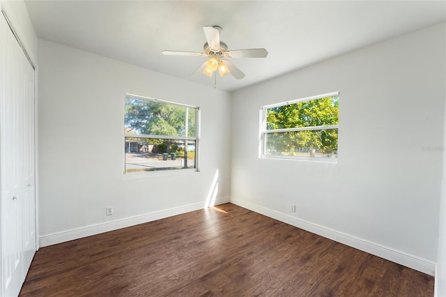
[{"label": "white baseboard along the left wall, below the street-view window", "polygon": [[[229,197],[220,197],[215,199],[215,205],[224,204],[229,202]],[[162,218],[168,218],[173,215],[180,215],[182,213],[189,213],[190,211],[197,211],[205,207],[205,202],[198,202],[194,204],[188,204],[185,206],[179,206],[175,208],[164,209],[162,211],[155,211],[153,213],[146,213],[144,215],[137,215],[130,218],[124,218],[120,220],[114,220],[112,222],[104,222],[100,224],[93,224],[86,227],[80,227],[76,229],[70,229],[67,231],[57,232],[54,234],[47,234],[40,236],[39,245],[40,248],[55,245],[57,243],[64,243],[66,241],[73,241],[75,239],[92,236],[96,234],[105,233],[125,227],[134,226],[136,224],[142,224],[145,222],[151,222],[154,220],[160,220]]]}]

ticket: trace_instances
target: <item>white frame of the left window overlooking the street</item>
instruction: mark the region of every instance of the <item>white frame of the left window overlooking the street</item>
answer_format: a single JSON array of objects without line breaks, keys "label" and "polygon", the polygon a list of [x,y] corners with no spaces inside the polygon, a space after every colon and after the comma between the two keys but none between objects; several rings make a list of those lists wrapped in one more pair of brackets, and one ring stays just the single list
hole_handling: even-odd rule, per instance
[{"label": "white frame of the left window overlooking the street", "polygon": [[[126,98],[137,98],[137,99],[141,99],[141,100],[148,100],[148,101],[153,101],[153,102],[158,102],[158,103],[162,103],[162,104],[167,104],[167,105],[176,105],[176,106],[180,106],[180,107],[189,107],[189,108],[193,108],[195,109],[195,137],[180,137],[180,136],[167,136],[167,135],[146,135],[146,134],[127,134],[124,132],[124,136],[123,136],[123,141],[125,144],[125,137],[133,137],[133,138],[141,138],[141,139],[145,139],[145,138],[153,138],[153,139],[174,139],[174,140],[190,140],[190,141],[194,141],[195,142],[195,168],[186,168],[186,169],[170,169],[170,170],[154,170],[154,171],[148,171],[148,172],[125,172],[125,152],[123,155],[123,160],[124,160],[124,168],[123,168],[123,174],[125,178],[134,178],[134,177],[139,177],[139,176],[151,176],[151,175],[156,175],[156,176],[162,176],[162,175],[174,175],[174,174],[184,174],[184,173],[191,173],[191,172],[199,172],[199,143],[200,143],[200,124],[201,124],[201,120],[200,120],[200,116],[201,116],[201,110],[200,107],[197,106],[193,106],[193,105],[186,105],[186,104],[182,104],[182,103],[178,103],[178,102],[171,102],[171,101],[167,101],[167,100],[160,100],[160,99],[156,99],[156,98],[150,98],[150,97],[144,97],[144,96],[138,96],[138,95],[133,95],[130,93],[125,93],[124,94],[124,98],[123,98],[123,105],[124,108],[123,110],[125,110],[125,99]],[[123,113],[123,118],[125,117],[125,114]],[[124,123],[124,119],[123,119],[123,123]],[[125,125],[124,125],[124,130],[125,130]],[[187,148],[186,148],[187,149]]]}]

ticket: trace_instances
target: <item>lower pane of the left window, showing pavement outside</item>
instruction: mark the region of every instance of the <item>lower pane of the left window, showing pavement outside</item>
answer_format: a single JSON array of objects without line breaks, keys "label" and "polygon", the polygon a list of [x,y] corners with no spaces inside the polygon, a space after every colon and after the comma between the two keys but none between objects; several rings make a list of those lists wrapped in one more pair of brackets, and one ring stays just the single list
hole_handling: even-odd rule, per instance
[{"label": "lower pane of the left window, showing pavement outside", "polygon": [[194,140],[125,137],[125,173],[195,168],[195,145]]}]

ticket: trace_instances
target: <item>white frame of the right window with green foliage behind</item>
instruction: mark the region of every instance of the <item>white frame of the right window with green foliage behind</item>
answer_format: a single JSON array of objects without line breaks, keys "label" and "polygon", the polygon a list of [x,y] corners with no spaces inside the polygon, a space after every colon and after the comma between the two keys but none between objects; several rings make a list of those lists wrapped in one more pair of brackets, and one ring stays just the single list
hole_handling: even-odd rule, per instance
[{"label": "white frame of the right window with green foliage behind", "polygon": [[[306,102],[306,101],[312,101],[312,100],[318,100],[326,97],[333,97],[333,96],[339,96],[339,91],[332,92],[332,93],[325,93],[317,96],[310,96],[305,98],[300,98],[296,100],[290,100],[285,102],[279,102],[272,105],[265,105],[260,107],[259,112],[259,158],[270,158],[270,159],[289,159],[289,160],[308,160],[308,161],[314,161],[314,162],[337,162],[337,158],[315,158],[315,157],[307,157],[307,156],[292,156],[292,155],[266,155],[264,153],[265,146],[266,146],[266,135],[270,133],[277,133],[277,132],[295,132],[295,131],[307,131],[307,130],[328,130],[328,129],[338,129],[339,133],[339,124],[338,125],[318,125],[318,126],[311,126],[311,127],[299,127],[299,128],[284,128],[284,129],[274,129],[274,130],[267,130],[266,129],[266,116],[267,116],[267,110],[272,107],[279,107],[279,106],[285,106],[285,105],[292,105],[299,102]],[[338,150],[339,152],[339,139],[338,139]]]}]

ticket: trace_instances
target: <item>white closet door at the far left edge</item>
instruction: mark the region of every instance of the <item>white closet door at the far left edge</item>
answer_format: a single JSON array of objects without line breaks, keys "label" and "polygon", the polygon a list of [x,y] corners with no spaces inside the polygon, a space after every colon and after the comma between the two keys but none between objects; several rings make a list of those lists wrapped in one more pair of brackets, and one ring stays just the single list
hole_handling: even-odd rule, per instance
[{"label": "white closet door at the far left edge", "polygon": [[[22,228],[20,227],[19,165],[17,156],[17,85],[19,62],[15,38],[1,16],[1,259],[3,293],[17,295],[22,278]],[[13,41],[13,42],[12,42]]]}]

